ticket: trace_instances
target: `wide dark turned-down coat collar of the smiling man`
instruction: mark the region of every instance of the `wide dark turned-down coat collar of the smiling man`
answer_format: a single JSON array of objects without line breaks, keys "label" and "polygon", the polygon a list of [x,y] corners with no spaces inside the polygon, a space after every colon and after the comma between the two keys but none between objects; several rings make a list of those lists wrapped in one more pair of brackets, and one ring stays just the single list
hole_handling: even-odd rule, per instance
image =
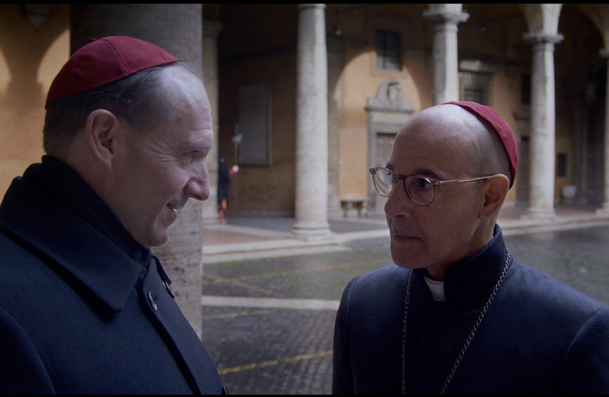
[{"label": "wide dark turned-down coat collar of the smiling man", "polygon": [[80,175],[52,156],[13,180],[0,228],[52,259],[112,311],[124,307],[151,257]]}]

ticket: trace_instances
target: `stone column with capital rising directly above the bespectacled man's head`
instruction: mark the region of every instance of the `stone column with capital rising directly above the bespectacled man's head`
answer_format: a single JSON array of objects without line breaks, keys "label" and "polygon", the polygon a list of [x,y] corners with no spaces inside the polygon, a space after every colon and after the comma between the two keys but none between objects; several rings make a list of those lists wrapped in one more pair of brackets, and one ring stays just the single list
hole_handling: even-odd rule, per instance
[{"label": "stone column with capital rising directly above the bespectacled man's head", "polygon": [[462,4],[432,4],[423,12],[434,23],[434,105],[459,100],[459,59],[457,24],[470,17]]}]

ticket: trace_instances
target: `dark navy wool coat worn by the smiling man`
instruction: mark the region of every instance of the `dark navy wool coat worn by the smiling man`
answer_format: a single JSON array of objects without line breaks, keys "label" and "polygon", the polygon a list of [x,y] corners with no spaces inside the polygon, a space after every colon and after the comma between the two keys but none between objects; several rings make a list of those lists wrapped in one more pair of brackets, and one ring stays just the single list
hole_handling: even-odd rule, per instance
[{"label": "dark navy wool coat worn by the smiling man", "polygon": [[79,175],[44,156],[0,206],[0,393],[221,393],[164,280]]}]

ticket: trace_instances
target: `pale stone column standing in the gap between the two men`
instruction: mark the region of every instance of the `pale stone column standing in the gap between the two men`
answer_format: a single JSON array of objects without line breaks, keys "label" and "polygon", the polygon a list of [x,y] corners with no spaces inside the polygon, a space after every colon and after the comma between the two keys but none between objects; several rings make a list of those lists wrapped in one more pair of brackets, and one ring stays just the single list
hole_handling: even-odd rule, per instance
[{"label": "pale stone column standing in the gap between the two men", "polygon": [[306,239],[330,233],[325,9],[298,5],[294,233]]}]

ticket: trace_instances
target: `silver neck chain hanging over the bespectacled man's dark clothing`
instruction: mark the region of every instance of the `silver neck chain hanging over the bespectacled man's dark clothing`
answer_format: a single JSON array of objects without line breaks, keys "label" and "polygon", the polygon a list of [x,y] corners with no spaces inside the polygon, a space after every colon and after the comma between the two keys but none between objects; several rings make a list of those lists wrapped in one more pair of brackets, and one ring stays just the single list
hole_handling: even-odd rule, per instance
[{"label": "silver neck chain hanging over the bespectacled man's dark clothing", "polygon": [[[460,364],[461,360],[463,359],[463,356],[465,355],[465,351],[470,346],[471,340],[474,338],[474,334],[476,334],[478,327],[482,323],[482,319],[484,318],[484,315],[487,314],[488,307],[491,306],[493,299],[495,299],[495,295],[497,295],[499,287],[501,287],[501,284],[503,284],[503,281],[505,279],[505,273],[507,273],[507,269],[509,269],[509,267],[510,267],[510,250],[508,250],[506,248],[506,250],[505,250],[505,267],[503,269],[503,273],[501,273],[501,276],[499,277],[499,281],[497,281],[497,284],[495,285],[495,289],[493,289],[493,292],[491,292],[491,296],[488,297],[487,304],[484,305],[482,312],[478,316],[478,320],[474,324],[474,328],[471,329],[470,336],[468,336],[467,339],[465,340],[465,345],[463,345],[463,348],[461,349],[461,353],[459,353],[459,357],[457,357],[455,364],[452,366],[452,369],[449,372],[448,377],[446,378],[446,382],[444,382],[444,386],[442,387],[442,390],[440,390],[441,395],[443,395],[446,392],[446,388],[448,388],[448,385],[450,384],[450,382],[452,380],[452,376],[454,376],[455,371],[457,371],[457,367],[459,367],[459,364]],[[406,287],[406,300],[404,301],[404,328],[402,331],[402,395],[406,395],[406,323],[408,320],[408,305],[410,303],[410,286],[412,285],[412,278],[414,278],[414,271],[410,270],[410,275],[408,276],[408,285]]]}]

